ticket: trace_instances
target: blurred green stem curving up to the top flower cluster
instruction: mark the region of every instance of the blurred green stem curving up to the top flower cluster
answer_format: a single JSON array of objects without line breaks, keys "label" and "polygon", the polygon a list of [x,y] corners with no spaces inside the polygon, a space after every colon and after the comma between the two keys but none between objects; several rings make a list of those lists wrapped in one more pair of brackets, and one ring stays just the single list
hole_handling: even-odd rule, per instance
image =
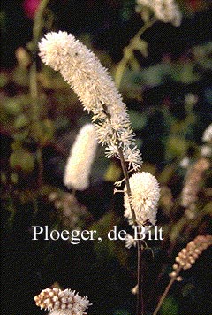
[{"label": "blurred green stem curving up to the top flower cluster", "polygon": [[[131,50],[131,51],[134,50],[134,43],[138,39],[140,39],[140,36],[148,29],[148,27],[151,27],[154,23],[155,23],[155,19],[152,19],[152,20],[149,20],[148,22],[146,22],[143,25],[143,27],[140,28],[139,32],[136,35],[134,35],[134,37],[131,40],[131,42],[129,43],[129,45],[125,47],[124,56],[121,59],[121,61],[118,63],[117,70],[115,73],[115,79],[114,80],[116,82],[117,88],[120,87],[122,77],[123,77],[123,74],[125,72],[125,67],[126,67],[127,63],[129,62],[129,59],[130,59],[129,50]],[[127,54],[125,53],[126,50],[128,51]]]}]

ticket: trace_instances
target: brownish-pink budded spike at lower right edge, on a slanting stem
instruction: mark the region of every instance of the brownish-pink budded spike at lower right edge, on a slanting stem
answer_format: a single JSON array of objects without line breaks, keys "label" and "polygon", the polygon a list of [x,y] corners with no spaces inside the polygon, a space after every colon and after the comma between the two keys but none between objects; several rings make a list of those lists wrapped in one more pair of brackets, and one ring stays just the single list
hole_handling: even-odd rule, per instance
[{"label": "brownish-pink budded spike at lower right edge, on a slanting stem", "polygon": [[206,250],[211,245],[211,235],[199,235],[192,242],[189,242],[186,248],[181,250],[175,258],[176,262],[172,266],[173,271],[170,273],[170,278],[181,280],[181,277],[178,277],[180,270],[190,269],[197,258],[201,255],[202,251]]}]

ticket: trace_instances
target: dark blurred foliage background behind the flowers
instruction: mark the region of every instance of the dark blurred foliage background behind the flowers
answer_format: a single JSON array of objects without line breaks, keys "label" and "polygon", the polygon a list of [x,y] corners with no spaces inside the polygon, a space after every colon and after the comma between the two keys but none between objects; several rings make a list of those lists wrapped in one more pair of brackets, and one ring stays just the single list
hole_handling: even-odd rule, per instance
[{"label": "dark blurred foliage background behind the flowers", "polygon": [[[61,76],[31,53],[38,4],[39,0],[1,4],[2,311],[41,314],[33,296],[57,282],[89,296],[94,304],[91,314],[133,314],[136,250],[106,237],[114,225],[131,231],[123,218],[123,197],[113,195],[121,168],[117,160],[106,159],[100,147],[90,188],[73,196],[64,187],[65,161],[89,116]],[[154,260],[150,250],[145,252],[147,315],[168,283],[178,251],[197,234],[211,233],[210,168],[198,183],[194,208],[185,209],[180,202],[188,167],[201,158],[202,133],[212,121],[211,4],[178,4],[181,26],[156,22],[149,27],[131,52],[120,85],[142,152],[142,170],[154,174],[162,189],[157,219],[165,239],[148,242]],[[51,0],[43,32],[76,35],[115,76],[125,46],[142,23],[133,0]],[[34,62],[36,106],[30,90]],[[32,242],[32,225],[96,229],[103,242]],[[184,280],[173,286],[160,314],[210,315],[209,254],[203,253],[183,274]]]}]

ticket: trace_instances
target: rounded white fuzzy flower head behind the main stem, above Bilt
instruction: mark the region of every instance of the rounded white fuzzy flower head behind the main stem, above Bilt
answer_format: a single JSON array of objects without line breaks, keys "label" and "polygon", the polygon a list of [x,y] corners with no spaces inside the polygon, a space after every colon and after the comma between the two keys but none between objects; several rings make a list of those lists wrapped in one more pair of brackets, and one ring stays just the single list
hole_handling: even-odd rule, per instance
[{"label": "rounded white fuzzy flower head behind the main stem, above Bilt", "polygon": [[160,198],[159,184],[155,176],[147,172],[134,173],[130,177],[130,187],[132,191],[130,200],[125,188],[125,218],[133,224],[131,204],[140,226],[145,225],[145,222],[155,225],[157,203]]}]

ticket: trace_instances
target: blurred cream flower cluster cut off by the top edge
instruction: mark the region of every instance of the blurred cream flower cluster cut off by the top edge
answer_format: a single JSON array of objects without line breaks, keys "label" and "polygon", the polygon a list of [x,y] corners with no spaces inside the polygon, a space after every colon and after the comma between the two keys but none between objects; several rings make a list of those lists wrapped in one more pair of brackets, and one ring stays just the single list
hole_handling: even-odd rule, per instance
[{"label": "blurred cream flower cluster cut off by the top edge", "polygon": [[181,24],[182,14],[175,0],[137,0],[137,4],[139,5],[138,11],[142,11],[143,7],[148,8],[154,12],[156,19],[164,23],[170,22],[175,27]]}]

